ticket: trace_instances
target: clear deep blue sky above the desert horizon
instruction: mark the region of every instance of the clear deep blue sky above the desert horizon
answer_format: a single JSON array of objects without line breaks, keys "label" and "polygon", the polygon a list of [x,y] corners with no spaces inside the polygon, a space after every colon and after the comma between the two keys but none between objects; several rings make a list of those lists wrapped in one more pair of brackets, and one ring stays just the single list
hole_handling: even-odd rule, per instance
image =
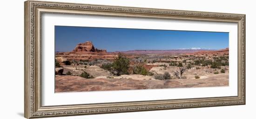
[{"label": "clear deep blue sky above the desert horizon", "polygon": [[70,52],[78,43],[92,41],[107,52],[128,50],[224,49],[229,33],[127,28],[55,26],[55,51]]}]

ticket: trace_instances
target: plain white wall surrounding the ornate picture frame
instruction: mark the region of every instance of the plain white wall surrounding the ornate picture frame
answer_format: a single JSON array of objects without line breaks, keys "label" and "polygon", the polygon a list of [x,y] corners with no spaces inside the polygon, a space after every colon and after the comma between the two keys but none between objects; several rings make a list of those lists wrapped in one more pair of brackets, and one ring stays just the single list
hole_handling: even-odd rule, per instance
[{"label": "plain white wall surrounding the ornate picture frame", "polygon": [[[53,1],[53,0],[47,0]],[[256,11],[254,0],[54,0],[88,4],[151,7],[246,14],[246,105],[52,119],[255,119]],[[24,0],[3,0],[0,7],[0,119],[23,118]]]}]

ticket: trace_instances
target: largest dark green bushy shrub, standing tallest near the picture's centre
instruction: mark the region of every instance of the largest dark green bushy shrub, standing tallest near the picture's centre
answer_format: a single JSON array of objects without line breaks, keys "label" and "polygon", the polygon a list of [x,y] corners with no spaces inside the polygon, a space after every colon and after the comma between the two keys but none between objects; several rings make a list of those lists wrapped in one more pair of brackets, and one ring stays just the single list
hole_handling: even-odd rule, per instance
[{"label": "largest dark green bushy shrub, standing tallest near the picture's centre", "polygon": [[128,69],[130,67],[130,61],[128,58],[119,54],[118,58],[115,59],[113,63],[113,69],[115,70],[115,75],[119,76],[122,74],[129,74]]}]

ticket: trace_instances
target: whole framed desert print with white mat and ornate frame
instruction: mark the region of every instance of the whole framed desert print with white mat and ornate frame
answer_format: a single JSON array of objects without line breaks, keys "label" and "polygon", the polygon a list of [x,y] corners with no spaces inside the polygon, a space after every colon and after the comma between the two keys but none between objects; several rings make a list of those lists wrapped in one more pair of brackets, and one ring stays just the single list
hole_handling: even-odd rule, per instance
[{"label": "whole framed desert print with white mat and ornate frame", "polygon": [[245,15],[25,2],[25,117],[245,105]]}]

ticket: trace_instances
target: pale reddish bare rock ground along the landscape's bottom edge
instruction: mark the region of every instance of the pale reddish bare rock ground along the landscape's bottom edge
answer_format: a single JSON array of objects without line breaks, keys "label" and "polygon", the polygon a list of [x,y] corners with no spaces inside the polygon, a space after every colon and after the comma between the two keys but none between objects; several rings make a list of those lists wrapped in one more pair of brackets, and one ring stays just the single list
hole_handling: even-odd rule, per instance
[{"label": "pale reddish bare rock ground along the landscape's bottom edge", "polygon": [[[140,77],[138,75],[135,76]],[[114,77],[113,79],[108,79],[105,77],[85,79],[79,76],[68,75],[56,75],[55,78],[56,93],[210,86],[229,86],[229,74],[214,74],[202,77],[200,79],[169,80],[157,80],[153,78],[147,79],[142,76],[141,78],[131,79],[129,75],[121,75]]]}]

